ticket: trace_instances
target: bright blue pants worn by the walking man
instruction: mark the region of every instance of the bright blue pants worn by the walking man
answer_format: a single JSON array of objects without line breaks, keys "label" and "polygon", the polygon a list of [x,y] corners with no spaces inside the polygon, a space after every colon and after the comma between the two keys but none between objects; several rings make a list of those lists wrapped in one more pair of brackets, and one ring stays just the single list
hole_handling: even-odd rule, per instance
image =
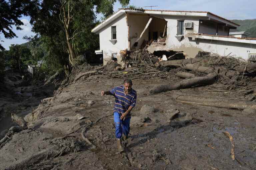
[{"label": "bright blue pants worn by the walking man", "polygon": [[114,112],[114,122],[116,124],[116,138],[120,139],[122,134],[128,136],[130,131],[130,120],[131,117],[125,118],[124,121],[120,120],[120,115],[118,112]]}]

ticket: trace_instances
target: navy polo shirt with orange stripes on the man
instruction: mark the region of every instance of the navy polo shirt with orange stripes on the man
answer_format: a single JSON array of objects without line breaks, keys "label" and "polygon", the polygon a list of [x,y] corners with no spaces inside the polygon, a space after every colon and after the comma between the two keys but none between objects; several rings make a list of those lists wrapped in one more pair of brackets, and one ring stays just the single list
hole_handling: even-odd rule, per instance
[{"label": "navy polo shirt with orange stripes on the man", "polygon": [[[135,90],[131,89],[131,92],[126,95],[124,86],[117,86],[111,89],[110,93],[116,98],[114,112],[118,112],[119,115],[125,113],[130,106],[135,107],[137,99]],[[128,113],[126,117],[131,117],[131,113]]]}]

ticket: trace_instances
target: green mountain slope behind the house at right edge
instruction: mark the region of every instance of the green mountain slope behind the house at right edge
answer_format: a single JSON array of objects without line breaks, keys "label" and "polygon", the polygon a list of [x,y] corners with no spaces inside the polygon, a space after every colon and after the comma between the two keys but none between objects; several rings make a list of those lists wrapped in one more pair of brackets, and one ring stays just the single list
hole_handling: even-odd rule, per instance
[{"label": "green mountain slope behind the house at right edge", "polygon": [[230,32],[235,31],[245,31],[251,34],[251,37],[256,37],[256,19],[253,20],[230,20],[236,24],[239,24],[240,27],[237,30],[230,30]]}]

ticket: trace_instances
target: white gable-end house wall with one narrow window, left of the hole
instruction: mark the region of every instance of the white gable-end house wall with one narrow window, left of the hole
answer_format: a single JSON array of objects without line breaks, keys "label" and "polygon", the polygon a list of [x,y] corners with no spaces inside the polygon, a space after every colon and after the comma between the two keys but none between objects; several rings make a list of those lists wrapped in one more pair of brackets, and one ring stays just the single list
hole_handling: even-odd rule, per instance
[{"label": "white gable-end house wall with one narrow window, left of the hole", "polygon": [[[112,44],[111,40],[111,27],[116,26],[116,40]],[[100,50],[103,50],[103,64],[105,65],[111,60],[112,53],[117,54],[117,61],[121,63],[120,50],[128,48],[128,27],[126,23],[125,14],[108,24],[99,33],[100,36]]]}]

